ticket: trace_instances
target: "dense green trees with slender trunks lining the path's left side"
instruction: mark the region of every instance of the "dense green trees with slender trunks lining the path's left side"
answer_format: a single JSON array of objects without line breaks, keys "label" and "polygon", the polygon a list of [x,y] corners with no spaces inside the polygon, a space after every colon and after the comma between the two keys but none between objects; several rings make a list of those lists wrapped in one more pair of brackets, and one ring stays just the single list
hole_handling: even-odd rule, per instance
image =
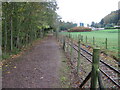
[{"label": "dense green trees with slender trunks lining the path's left side", "polygon": [[57,3],[3,2],[2,51],[14,53],[48,30],[55,29]]}]

